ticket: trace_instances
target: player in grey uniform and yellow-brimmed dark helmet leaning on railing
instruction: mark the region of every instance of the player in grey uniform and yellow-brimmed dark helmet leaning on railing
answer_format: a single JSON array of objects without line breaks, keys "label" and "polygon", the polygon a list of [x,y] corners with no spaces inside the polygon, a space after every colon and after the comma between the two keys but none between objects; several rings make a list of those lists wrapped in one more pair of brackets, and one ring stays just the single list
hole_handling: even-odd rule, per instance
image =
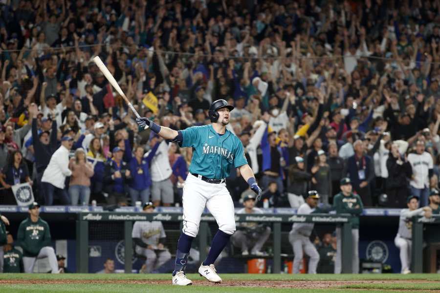
[{"label": "player in grey uniform and yellow-brimmed dark helmet leaning on railing", "polygon": [[[306,202],[302,204],[297,214],[308,215],[315,211],[318,205],[319,194],[316,190],[308,191]],[[319,262],[319,253],[313,243],[310,241],[310,234],[315,224],[313,223],[294,223],[292,230],[289,232],[289,242],[292,245],[295,258],[293,259],[293,273],[299,273],[303,253],[309,256],[308,273],[316,273],[316,267]]]}]

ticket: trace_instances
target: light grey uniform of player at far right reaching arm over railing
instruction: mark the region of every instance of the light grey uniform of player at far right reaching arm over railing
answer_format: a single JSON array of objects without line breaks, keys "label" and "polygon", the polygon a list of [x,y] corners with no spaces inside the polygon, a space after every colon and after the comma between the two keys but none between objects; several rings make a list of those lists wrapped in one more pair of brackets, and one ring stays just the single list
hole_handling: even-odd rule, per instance
[{"label": "light grey uniform of player at far right reaching arm over railing", "polygon": [[412,217],[423,216],[424,210],[422,208],[409,210],[402,209],[400,211],[399,217],[399,230],[397,231],[396,238],[394,239],[394,244],[400,250],[400,263],[402,265],[401,272],[410,269],[411,266],[411,248],[412,248],[412,228],[413,222]]}]

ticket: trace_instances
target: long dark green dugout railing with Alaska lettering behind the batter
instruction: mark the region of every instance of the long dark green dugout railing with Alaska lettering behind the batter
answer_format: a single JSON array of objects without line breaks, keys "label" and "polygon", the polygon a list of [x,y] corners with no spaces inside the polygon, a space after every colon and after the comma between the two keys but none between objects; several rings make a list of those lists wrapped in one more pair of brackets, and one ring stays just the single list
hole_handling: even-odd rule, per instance
[{"label": "long dark green dugout railing with Alaska lettering behind the batter", "polygon": [[[281,225],[283,223],[316,223],[334,224],[342,229],[342,272],[352,272],[352,233],[348,214],[236,214],[236,222],[267,223],[272,227],[273,234],[273,273],[281,272]],[[88,272],[89,223],[119,222],[123,223],[124,234],[124,266],[125,272],[132,272],[132,227],[135,221],[181,222],[182,214],[173,212],[80,212],[76,220],[76,272]],[[205,259],[208,246],[208,223],[215,222],[211,214],[201,216],[199,227],[200,260]],[[127,249],[128,248],[128,249]]]}]

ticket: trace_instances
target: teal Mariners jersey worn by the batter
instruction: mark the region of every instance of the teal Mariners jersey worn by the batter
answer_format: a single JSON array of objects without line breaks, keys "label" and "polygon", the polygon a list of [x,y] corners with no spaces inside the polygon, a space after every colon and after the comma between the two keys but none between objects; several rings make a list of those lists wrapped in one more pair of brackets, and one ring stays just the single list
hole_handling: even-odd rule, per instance
[{"label": "teal Mariners jersey worn by the batter", "polygon": [[193,174],[223,179],[229,176],[231,165],[237,168],[247,164],[242,142],[227,129],[219,135],[212,125],[192,126],[181,130],[181,133],[181,146],[193,148],[189,167]]}]

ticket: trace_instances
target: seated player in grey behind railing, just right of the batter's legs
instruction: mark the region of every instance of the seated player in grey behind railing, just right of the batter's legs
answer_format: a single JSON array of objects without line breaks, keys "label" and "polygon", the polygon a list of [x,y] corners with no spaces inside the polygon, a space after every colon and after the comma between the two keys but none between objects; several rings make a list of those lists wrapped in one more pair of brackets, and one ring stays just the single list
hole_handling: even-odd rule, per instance
[{"label": "seated player in grey behind railing, just right of the batter's legs", "polygon": [[[237,211],[238,214],[262,214],[263,211],[255,208],[255,196],[248,194],[243,198],[243,209]],[[267,255],[261,249],[267,238],[270,236],[270,227],[263,223],[245,222],[240,223],[238,230],[232,235],[232,244],[242,249],[242,255],[249,255],[249,246],[253,245],[252,255]]]}]

